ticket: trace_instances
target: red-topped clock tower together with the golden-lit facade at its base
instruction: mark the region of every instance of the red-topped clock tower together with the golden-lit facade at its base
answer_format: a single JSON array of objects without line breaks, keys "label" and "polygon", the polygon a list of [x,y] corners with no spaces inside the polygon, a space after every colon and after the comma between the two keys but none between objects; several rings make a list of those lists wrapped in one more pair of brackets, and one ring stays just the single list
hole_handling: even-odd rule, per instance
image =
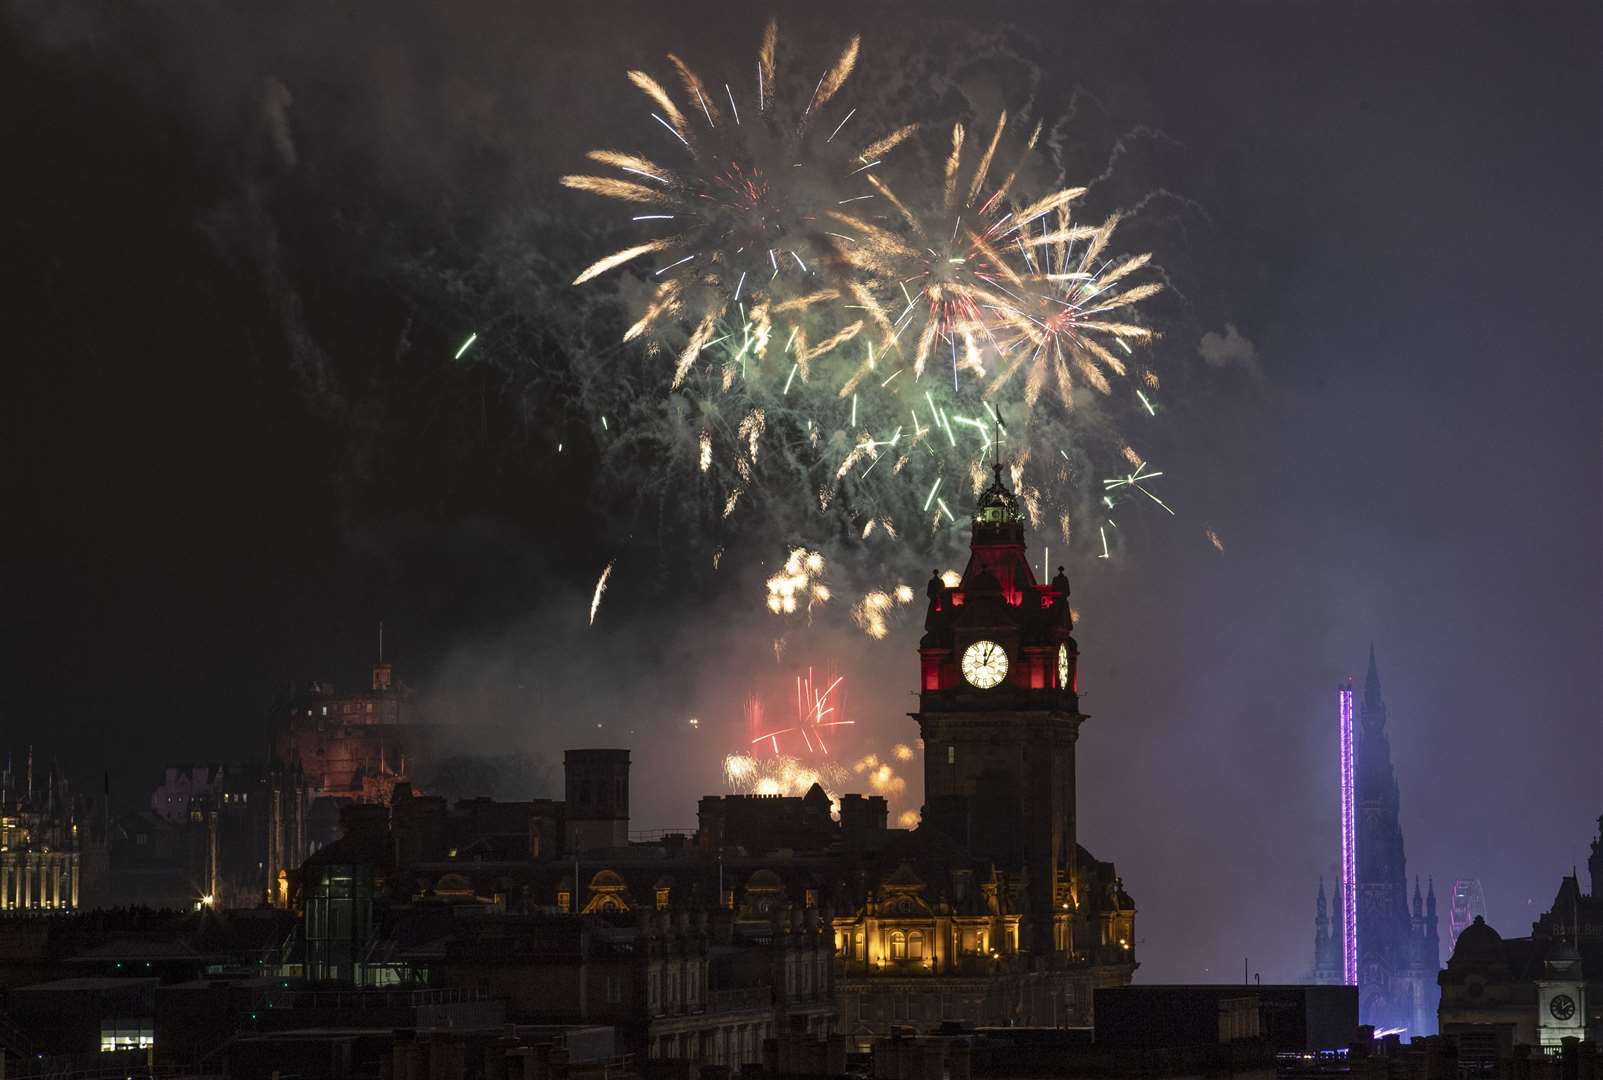
[{"label": "red-topped clock tower together with the golden-lit facade at its base", "polygon": [[1135,973],[1135,904],[1077,843],[1069,582],[1036,582],[1000,465],[962,582],[927,591],[923,820],[835,917],[842,1024],[1088,1024],[1092,990]]}]

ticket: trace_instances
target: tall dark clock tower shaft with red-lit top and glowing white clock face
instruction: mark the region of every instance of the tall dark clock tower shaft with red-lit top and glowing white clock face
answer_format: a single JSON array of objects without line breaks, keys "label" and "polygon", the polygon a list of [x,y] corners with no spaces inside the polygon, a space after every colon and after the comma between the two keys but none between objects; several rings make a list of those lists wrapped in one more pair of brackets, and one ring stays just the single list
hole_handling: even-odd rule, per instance
[{"label": "tall dark clock tower shaft with red-lit top and glowing white clock face", "polygon": [[[979,495],[962,582],[930,580],[919,643],[925,824],[992,860],[1020,889],[1021,950],[1074,949],[1079,907],[1074,744],[1079,649],[1063,569],[1040,585],[1018,498]],[[1129,945],[1125,945],[1129,947]]]}]

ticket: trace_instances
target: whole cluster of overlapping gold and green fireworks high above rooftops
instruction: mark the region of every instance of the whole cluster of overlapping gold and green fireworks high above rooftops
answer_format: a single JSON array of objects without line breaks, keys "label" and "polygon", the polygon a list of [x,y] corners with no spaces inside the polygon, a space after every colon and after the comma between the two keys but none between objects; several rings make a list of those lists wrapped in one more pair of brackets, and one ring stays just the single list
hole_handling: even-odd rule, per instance
[{"label": "whole cluster of overlapping gold and green fireworks high above rooftops", "polygon": [[[936,163],[914,170],[919,147],[891,151],[919,128],[867,123],[846,101],[848,80],[867,79],[853,74],[858,38],[803,67],[781,62],[771,22],[739,80],[668,66],[662,80],[630,72],[660,146],[596,151],[600,170],[564,178],[646,231],[579,274],[646,280],[624,333],[643,341],[644,381],[627,389],[628,433],[603,433],[609,461],[636,469],[633,490],[662,505],[694,490],[672,513],[694,514],[720,553],[723,522],[760,513],[769,535],[904,545],[907,572],[946,558],[963,489],[989,482],[1000,452],[1034,527],[1056,524],[1071,545],[1072,510],[1074,542],[1109,556],[1092,465],[1108,429],[1082,402],[1133,373],[1132,407],[1157,415],[1156,377],[1132,369],[1154,338],[1135,311],[1161,285],[1145,280],[1149,255],[1117,253],[1117,215],[1084,220],[1085,187],[1034,179],[1042,125],[927,125]],[[585,386],[612,409],[593,412],[622,412],[601,381]],[[640,393],[651,383],[668,394]],[[640,482],[640,469],[656,473]],[[848,566],[837,585],[861,596],[837,611],[875,638],[907,602],[886,577]],[[787,564],[763,599],[811,617],[830,593]]]}]

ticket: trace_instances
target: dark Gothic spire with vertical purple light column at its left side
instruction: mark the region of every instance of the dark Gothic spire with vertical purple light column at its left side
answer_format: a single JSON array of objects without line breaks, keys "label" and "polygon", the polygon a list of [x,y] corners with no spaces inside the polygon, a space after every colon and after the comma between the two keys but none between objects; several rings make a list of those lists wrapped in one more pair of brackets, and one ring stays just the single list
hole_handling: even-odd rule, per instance
[{"label": "dark Gothic spire with vertical purple light column at its left side", "polygon": [[[1430,883],[1422,896],[1415,878],[1412,902],[1409,899],[1398,819],[1401,800],[1374,647],[1369,649],[1356,727],[1351,697],[1350,687],[1339,692],[1343,798],[1340,925],[1332,926],[1326,918],[1321,883],[1314,913],[1314,977],[1319,982],[1356,984],[1359,1018],[1377,1030],[1431,1035],[1436,1029],[1436,973],[1441,969],[1436,888]],[[1356,910],[1347,907],[1348,902]]]}]

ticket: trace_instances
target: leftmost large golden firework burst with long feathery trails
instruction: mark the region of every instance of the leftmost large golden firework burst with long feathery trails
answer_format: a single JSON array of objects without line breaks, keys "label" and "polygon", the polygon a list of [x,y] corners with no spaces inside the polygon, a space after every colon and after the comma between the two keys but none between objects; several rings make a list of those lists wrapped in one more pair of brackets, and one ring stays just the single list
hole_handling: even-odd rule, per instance
[{"label": "leftmost large golden firework burst with long feathery trails", "polygon": [[[652,293],[628,341],[646,332],[684,327],[672,383],[680,386],[702,353],[742,338],[741,361],[761,361],[776,324],[787,327],[787,353],[806,378],[816,356],[850,340],[861,320],[808,345],[808,316],[859,292],[842,272],[856,239],[830,212],[872,197],[867,179],[914,128],[861,138],[854,107],[838,103],[858,64],[853,37],[803,93],[781,80],[779,27],[769,21],[755,67],[755,87],[709,83],[668,54],[681,98],[652,75],[628,72],[651,101],[673,159],[592,151],[611,175],[571,175],[563,184],[630,205],[651,239],[606,255],[574,279],[587,282],[651,256]],[[681,104],[683,103],[683,104]],[[805,104],[803,104],[805,103]],[[742,107],[744,104],[744,107]],[[853,125],[853,120],[858,120]],[[668,160],[681,163],[670,165]]]}]

